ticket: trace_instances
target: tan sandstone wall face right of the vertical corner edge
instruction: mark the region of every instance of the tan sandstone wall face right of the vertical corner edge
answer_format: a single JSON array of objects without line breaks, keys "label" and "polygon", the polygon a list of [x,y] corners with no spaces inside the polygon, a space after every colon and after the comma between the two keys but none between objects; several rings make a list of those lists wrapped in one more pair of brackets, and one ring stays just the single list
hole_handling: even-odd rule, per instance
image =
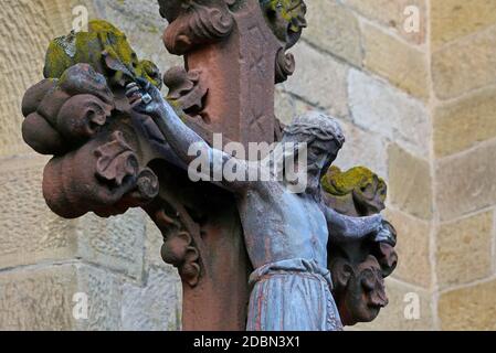
[{"label": "tan sandstone wall face right of the vertical corner edge", "polygon": [[432,1],[431,22],[437,324],[495,330],[496,2]]}]

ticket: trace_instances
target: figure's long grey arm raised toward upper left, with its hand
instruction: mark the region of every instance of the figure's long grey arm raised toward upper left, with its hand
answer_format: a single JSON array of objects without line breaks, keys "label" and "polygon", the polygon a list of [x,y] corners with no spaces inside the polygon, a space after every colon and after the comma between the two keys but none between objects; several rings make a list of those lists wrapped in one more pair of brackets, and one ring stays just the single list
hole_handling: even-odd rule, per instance
[{"label": "figure's long grey arm raised toward upper left, with its hand", "polygon": [[[208,175],[211,178],[210,180],[214,180],[213,176],[219,175],[220,178],[217,178],[217,181],[232,191],[239,191],[246,185],[241,181],[226,180],[222,175],[223,168],[228,162],[234,162],[238,168],[247,171],[246,163],[223,151],[211,148],[197,132],[182,122],[157,87],[145,79],[138,78],[138,83],[131,83],[127,86],[126,96],[135,110],[149,115],[155,120],[172,150],[188,167],[198,160],[198,153],[200,153],[204,159],[204,164],[209,165]],[[204,171],[202,172],[204,173]]]}]

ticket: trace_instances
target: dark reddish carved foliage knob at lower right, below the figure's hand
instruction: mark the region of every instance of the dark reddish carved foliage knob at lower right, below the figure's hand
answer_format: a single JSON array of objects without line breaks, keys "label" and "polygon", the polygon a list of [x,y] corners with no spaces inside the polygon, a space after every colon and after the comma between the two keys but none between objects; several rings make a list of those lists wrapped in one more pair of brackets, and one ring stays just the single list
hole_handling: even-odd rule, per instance
[{"label": "dark reddish carved foliage knob at lower right, below the figure's hand", "polygon": [[356,268],[344,264],[334,275],[338,277],[337,289],[341,295],[337,301],[344,324],[370,322],[388,304],[381,267],[373,256]]}]

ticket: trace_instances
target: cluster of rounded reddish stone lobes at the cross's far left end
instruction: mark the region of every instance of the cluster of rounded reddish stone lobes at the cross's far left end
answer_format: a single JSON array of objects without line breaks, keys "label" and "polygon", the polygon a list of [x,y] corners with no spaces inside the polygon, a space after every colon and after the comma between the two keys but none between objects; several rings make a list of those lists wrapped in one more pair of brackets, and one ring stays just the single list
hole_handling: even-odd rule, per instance
[{"label": "cluster of rounded reddish stone lobes at the cross's far left end", "polygon": [[60,154],[95,136],[113,108],[105,78],[87,64],[75,65],[25,93],[23,135],[35,151]]}]

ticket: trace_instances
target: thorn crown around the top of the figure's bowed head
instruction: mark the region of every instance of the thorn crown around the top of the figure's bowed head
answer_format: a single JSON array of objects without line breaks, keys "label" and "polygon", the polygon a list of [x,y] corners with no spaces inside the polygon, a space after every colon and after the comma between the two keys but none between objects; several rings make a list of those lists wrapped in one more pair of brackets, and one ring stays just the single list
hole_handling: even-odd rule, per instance
[{"label": "thorn crown around the top of the figure's bowed head", "polygon": [[335,140],[339,147],[345,143],[345,135],[336,119],[323,114],[309,113],[297,117],[284,129],[287,135],[309,135],[321,141]]}]

